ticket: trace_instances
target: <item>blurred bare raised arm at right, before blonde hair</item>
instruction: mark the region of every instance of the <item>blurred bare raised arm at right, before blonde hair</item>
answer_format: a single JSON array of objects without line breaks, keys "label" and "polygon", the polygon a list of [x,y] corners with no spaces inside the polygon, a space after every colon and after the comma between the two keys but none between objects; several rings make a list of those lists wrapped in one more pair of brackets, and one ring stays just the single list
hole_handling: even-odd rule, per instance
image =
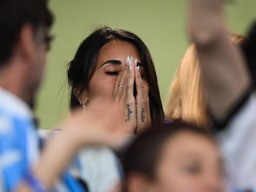
[{"label": "blurred bare raised arm at right, before blonde hair", "polygon": [[250,88],[250,76],[238,47],[230,42],[224,0],[189,0],[188,34],[196,44],[208,108],[225,123]]}]

